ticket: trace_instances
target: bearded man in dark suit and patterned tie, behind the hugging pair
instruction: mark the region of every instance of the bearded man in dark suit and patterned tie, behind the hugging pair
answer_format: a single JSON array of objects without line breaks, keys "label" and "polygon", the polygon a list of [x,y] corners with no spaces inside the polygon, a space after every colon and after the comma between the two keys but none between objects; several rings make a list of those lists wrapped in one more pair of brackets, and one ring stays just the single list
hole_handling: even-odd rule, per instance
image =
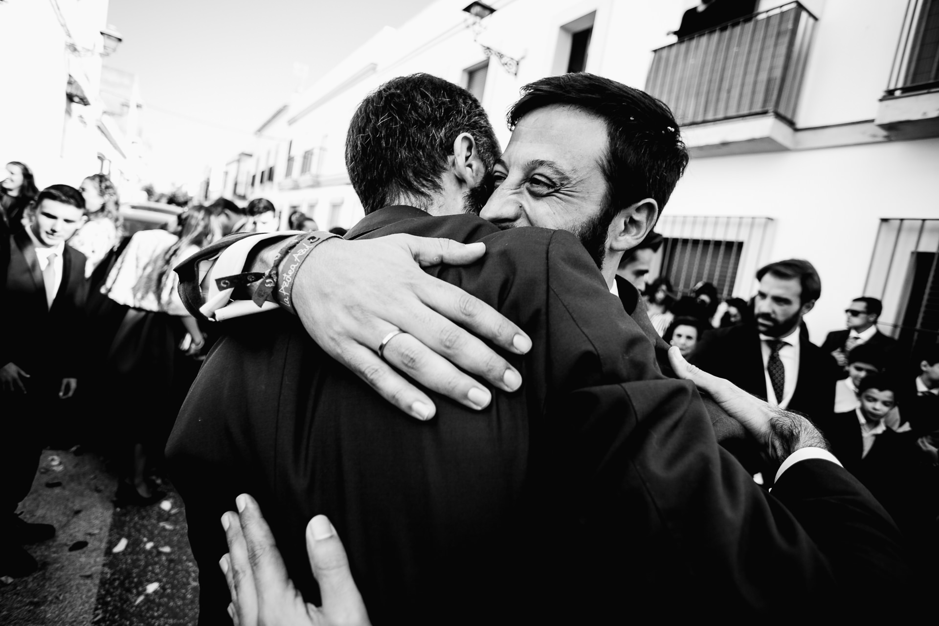
[{"label": "bearded man in dark suit and patterned tie, behind the hugging pair", "polygon": [[815,267],[802,259],[777,261],[757,272],[755,325],[704,334],[689,361],[705,372],[809,419],[835,405],[834,359],[800,333],[803,316],[822,295]]}]

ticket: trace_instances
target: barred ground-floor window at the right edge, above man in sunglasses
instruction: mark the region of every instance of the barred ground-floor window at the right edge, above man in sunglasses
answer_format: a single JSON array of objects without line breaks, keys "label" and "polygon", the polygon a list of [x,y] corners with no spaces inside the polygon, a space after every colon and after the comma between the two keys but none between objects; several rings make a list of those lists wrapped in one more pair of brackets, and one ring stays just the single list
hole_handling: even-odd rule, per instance
[{"label": "barred ground-floor window at the right edge, above man in sunglasses", "polygon": [[864,295],[880,298],[881,331],[906,355],[939,339],[939,220],[881,220]]}]

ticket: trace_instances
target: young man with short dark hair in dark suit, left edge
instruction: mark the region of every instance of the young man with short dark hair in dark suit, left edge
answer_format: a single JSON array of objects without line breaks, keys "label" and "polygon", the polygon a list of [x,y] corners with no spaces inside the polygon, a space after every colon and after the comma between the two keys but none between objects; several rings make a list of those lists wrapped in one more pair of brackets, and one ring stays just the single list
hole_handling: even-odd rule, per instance
[{"label": "young man with short dark hair in dark suit, left edge", "polygon": [[54,527],[15,515],[29,493],[42,440],[38,428],[61,420],[77,386],[74,349],[85,306],[85,255],[66,241],[85,223],[82,193],[68,185],[39,192],[30,224],[9,236],[0,328],[0,575],[23,576],[36,560],[23,543],[49,539]]}]

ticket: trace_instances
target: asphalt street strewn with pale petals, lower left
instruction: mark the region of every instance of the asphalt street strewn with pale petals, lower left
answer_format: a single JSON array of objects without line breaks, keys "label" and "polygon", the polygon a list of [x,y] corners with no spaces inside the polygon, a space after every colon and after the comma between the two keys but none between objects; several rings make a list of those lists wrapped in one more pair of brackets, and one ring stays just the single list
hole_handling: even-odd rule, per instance
[{"label": "asphalt street strewn with pale petals, lower left", "polygon": [[195,623],[197,570],[182,500],[171,485],[149,507],[115,508],[115,478],[94,454],[44,450],[20,511],[53,524],[27,546],[36,573],[0,582],[4,626],[169,626]]}]

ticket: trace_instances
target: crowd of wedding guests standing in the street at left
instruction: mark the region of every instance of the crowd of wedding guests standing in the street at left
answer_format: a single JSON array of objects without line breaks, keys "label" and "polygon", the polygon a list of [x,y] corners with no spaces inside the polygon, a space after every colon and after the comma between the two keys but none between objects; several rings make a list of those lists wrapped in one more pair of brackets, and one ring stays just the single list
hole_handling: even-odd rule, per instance
[{"label": "crowd of wedding guests standing in the street at left", "polygon": [[15,514],[44,446],[103,452],[118,477],[118,505],[164,496],[162,450],[212,339],[183,306],[173,267],[230,233],[273,231],[279,216],[266,199],[240,207],[220,198],[129,234],[104,174],[39,191],[30,168],[13,161],[0,187],[0,315],[8,329],[0,397],[4,413],[17,416],[0,437],[8,478],[0,487],[0,575],[22,576],[37,568],[23,544],[55,532]]}]

